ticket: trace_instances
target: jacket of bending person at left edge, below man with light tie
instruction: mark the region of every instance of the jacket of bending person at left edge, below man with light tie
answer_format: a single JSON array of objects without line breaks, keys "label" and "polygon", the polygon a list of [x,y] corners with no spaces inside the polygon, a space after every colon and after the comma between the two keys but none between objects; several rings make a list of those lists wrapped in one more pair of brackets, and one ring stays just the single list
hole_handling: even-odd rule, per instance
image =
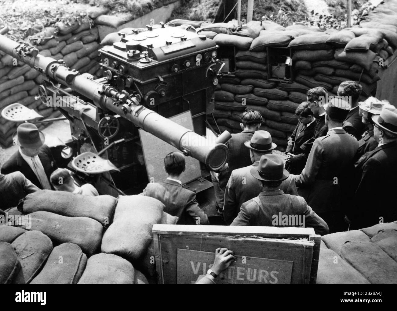
[{"label": "jacket of bending person at left edge, below man with light tie", "polygon": [[21,172],[0,174],[0,210],[15,207],[19,200],[39,190]]}]

